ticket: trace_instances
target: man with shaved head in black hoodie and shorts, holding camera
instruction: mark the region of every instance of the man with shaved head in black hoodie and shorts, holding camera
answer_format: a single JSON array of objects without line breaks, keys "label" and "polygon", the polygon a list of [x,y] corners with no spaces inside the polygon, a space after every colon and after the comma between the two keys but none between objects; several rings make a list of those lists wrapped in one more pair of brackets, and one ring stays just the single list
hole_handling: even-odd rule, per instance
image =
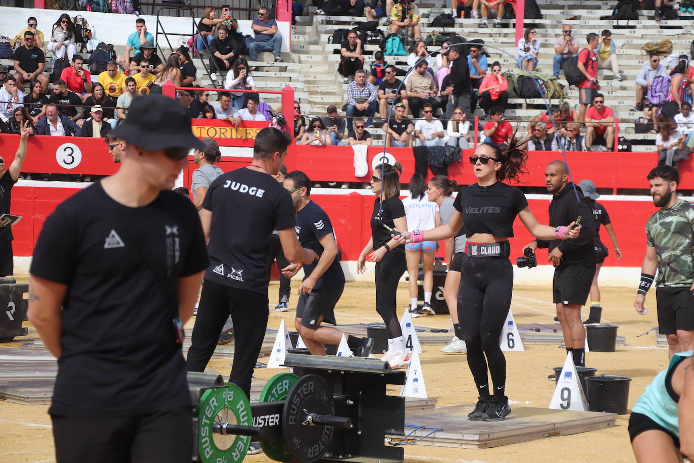
[{"label": "man with shaved head in black hoodie and shorts, holding camera", "polygon": [[557,305],[557,319],[564,332],[566,352],[573,353],[577,367],[585,367],[586,329],[581,319],[581,307],[586,305],[593,283],[595,262],[593,246],[595,220],[588,199],[580,188],[569,181],[568,167],[563,161],[552,161],[545,169],[545,183],[552,193],[550,226],[570,224],[580,217],[582,225],[575,238],[541,241],[536,239],[526,248],[548,248],[549,262],[555,266],[552,294]]}]

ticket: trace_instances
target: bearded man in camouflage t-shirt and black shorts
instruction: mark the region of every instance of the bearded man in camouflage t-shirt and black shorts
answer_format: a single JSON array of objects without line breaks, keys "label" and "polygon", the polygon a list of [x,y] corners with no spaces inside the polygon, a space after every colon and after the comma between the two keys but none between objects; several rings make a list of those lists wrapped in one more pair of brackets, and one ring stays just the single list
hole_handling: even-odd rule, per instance
[{"label": "bearded man in camouflage t-shirt and black shorts", "polygon": [[646,222],[646,255],[634,308],[640,315],[648,313],[643,303],[655,283],[658,328],[672,357],[694,346],[694,204],[677,197],[677,169],[659,166],[646,178],[653,204],[661,209]]}]

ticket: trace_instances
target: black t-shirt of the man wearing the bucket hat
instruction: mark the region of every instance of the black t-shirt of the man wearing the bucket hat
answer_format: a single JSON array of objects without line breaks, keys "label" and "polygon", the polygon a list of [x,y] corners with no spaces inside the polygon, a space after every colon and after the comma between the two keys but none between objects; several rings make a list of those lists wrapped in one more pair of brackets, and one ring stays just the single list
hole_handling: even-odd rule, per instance
[{"label": "black t-shirt of the man wearing the bucket hat", "polygon": [[67,285],[49,413],[101,418],[190,406],[174,330],[178,280],[208,263],[198,214],[178,193],[130,208],[95,183],[60,203],[31,262],[33,276]]}]

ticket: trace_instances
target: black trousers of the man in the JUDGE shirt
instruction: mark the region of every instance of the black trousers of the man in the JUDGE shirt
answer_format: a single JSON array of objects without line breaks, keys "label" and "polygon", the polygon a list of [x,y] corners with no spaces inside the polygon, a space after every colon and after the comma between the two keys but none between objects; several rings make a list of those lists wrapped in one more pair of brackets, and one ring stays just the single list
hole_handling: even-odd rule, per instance
[{"label": "black trousers of the man in the JUDGE shirt", "polygon": [[198,316],[193,327],[192,346],[188,350],[188,371],[205,371],[219,332],[227,317],[234,321],[234,362],[229,382],[233,382],[250,398],[251,378],[267,328],[267,294],[203,281],[203,292],[198,304]]}]

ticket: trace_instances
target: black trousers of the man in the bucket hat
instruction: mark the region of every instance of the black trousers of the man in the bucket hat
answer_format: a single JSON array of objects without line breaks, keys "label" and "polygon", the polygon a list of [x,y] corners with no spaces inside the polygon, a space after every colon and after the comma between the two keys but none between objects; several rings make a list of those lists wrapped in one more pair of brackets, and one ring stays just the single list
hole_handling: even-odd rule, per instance
[{"label": "black trousers of the man in the bucket hat", "polygon": [[189,463],[192,410],[83,418],[51,415],[58,463]]}]

